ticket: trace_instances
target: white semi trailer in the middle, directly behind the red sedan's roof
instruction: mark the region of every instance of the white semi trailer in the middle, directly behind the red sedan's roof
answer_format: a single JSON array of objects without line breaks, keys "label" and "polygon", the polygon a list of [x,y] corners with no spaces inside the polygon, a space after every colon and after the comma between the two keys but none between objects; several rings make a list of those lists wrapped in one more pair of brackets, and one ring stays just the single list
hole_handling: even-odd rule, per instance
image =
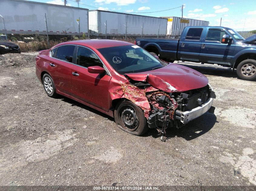
[{"label": "white semi trailer in the middle, directly behind the red sedan's roof", "polygon": [[167,19],[119,13],[113,11],[90,10],[89,30],[92,35],[166,36]]}]

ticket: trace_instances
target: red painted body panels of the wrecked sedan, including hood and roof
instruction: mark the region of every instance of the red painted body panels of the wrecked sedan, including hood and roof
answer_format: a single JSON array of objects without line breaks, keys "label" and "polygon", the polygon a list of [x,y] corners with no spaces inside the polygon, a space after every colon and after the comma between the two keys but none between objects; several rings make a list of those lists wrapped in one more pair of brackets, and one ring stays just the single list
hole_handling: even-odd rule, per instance
[{"label": "red painted body panels of the wrecked sedan, including hood and roof", "polygon": [[[81,45],[93,50],[105,64],[110,75],[105,71],[102,73],[103,68],[98,66],[84,68],[49,56],[51,49],[65,44]],[[47,72],[52,76],[58,94],[110,116],[113,116],[115,107],[112,105],[113,100],[125,98],[141,107],[147,118],[151,111],[151,103],[146,96],[149,92],[181,92],[202,88],[208,84],[208,78],[201,73],[185,66],[169,64],[153,71],[126,74],[133,80],[147,81],[152,85],[145,89],[138,88],[130,84],[124,75],[118,74],[98,52],[100,48],[125,45],[133,44],[117,40],[78,40],[60,43],[49,50],[39,52],[36,75],[41,81],[42,73]],[[51,66],[50,63],[55,66]],[[78,73],[79,76],[72,75],[72,72]]]}]

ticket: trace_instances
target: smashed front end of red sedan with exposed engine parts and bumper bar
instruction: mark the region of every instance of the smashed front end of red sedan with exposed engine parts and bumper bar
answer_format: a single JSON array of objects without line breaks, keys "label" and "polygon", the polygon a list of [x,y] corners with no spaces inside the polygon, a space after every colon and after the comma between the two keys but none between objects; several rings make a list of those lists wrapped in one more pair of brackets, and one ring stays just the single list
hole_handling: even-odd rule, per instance
[{"label": "smashed front end of red sedan with exposed engine parts and bumper bar", "polygon": [[[128,76],[126,77],[131,86],[143,91],[140,99],[144,96],[147,98],[150,108],[145,110],[144,107],[142,109],[145,112],[148,127],[151,129],[156,128],[160,130],[159,132],[164,133],[168,127],[180,128],[208,110],[214,111],[212,103],[215,94],[209,84],[202,88],[182,92],[177,92],[176,89],[170,89],[170,92],[167,92],[161,90],[163,88],[153,87],[147,80],[135,81]],[[168,84],[165,81],[163,83]],[[135,103],[135,100],[133,102]]]}]

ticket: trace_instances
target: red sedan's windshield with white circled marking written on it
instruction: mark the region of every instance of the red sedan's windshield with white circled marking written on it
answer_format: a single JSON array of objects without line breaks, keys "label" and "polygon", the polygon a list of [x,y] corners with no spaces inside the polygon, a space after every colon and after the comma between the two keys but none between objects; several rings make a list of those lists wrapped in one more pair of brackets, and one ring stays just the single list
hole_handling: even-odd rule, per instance
[{"label": "red sedan's windshield with white circled marking written on it", "polygon": [[145,72],[164,66],[155,56],[137,45],[98,49],[119,74]]}]

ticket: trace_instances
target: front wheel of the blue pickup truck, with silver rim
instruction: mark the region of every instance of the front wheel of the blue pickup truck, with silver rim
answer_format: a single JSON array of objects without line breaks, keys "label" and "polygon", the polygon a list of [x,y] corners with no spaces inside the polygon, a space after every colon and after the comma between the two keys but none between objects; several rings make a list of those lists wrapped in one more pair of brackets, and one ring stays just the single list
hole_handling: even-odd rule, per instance
[{"label": "front wheel of the blue pickup truck, with silver rim", "polygon": [[240,62],[236,68],[236,73],[243,80],[256,79],[256,60],[247,59]]}]

